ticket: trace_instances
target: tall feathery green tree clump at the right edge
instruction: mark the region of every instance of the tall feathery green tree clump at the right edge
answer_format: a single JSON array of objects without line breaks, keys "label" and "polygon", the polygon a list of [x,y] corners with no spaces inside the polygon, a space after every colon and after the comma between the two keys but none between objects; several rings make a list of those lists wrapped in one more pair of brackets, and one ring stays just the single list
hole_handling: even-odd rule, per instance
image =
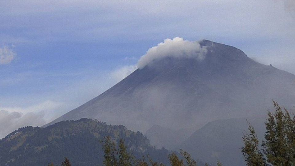
[{"label": "tall feathery green tree clump at the right edge", "polygon": [[262,152],[253,126],[249,124],[250,134],[244,135],[242,153],[247,165],[295,165],[295,117],[277,102],[273,101],[275,112],[269,112],[265,122],[265,140]]}]

